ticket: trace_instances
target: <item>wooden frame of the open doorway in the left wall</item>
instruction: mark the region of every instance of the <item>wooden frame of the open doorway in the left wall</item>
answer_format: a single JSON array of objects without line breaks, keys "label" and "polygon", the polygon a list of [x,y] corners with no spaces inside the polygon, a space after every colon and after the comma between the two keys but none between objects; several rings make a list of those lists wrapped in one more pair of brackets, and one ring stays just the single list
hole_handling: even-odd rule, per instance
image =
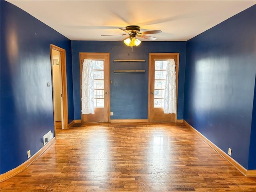
[{"label": "wooden frame of the open doorway in the left wall", "polygon": [[[63,105],[63,128],[68,129],[68,91],[67,91],[67,74],[66,74],[66,50],[62,49],[56,45],[50,44],[51,48],[51,70],[52,70],[52,50],[56,50],[60,52],[60,71],[61,71],[61,85],[62,85],[62,105]],[[53,74],[52,74],[53,80]],[[53,86],[53,83],[52,83]],[[53,111],[55,112],[54,108],[54,89],[52,88],[53,92]],[[55,126],[55,119],[54,119],[54,135],[56,136],[56,126]]]}]

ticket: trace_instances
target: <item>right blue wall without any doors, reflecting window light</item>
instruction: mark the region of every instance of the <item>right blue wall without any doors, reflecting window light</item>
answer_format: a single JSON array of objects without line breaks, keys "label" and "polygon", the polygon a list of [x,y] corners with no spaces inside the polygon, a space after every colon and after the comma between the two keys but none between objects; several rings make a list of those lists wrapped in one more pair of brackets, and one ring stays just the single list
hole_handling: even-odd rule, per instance
[{"label": "right blue wall without any doors, reflecting window light", "polygon": [[[245,168],[256,169],[250,146],[256,73],[256,6],[187,42],[184,120]],[[255,116],[255,109],[254,109]],[[253,158],[253,159],[252,159]],[[248,167],[250,161],[250,167]]]}]

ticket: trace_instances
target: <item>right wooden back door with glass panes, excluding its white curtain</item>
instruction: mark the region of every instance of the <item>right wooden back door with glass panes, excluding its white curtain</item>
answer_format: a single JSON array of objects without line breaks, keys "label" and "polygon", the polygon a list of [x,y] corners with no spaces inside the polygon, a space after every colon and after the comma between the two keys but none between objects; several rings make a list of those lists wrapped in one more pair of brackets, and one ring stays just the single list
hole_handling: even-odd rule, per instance
[{"label": "right wooden back door with glass panes, excluding its white curtain", "polygon": [[[150,53],[149,54],[149,121],[177,122],[177,113],[164,114],[164,88],[166,82],[167,60],[174,59],[176,70],[176,98],[178,93],[179,53]],[[177,108],[177,101],[176,101]]]}]

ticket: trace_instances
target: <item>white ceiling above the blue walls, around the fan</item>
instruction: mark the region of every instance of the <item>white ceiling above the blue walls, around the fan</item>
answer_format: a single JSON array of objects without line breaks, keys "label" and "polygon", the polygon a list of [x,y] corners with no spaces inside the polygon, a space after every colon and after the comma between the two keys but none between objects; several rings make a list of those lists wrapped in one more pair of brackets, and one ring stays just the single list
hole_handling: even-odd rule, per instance
[{"label": "white ceiling above the blue walls, around the fan", "polygon": [[[121,41],[139,25],[155,41],[185,41],[256,4],[256,0],[7,0],[70,40]],[[142,39],[145,41],[145,39]]]}]

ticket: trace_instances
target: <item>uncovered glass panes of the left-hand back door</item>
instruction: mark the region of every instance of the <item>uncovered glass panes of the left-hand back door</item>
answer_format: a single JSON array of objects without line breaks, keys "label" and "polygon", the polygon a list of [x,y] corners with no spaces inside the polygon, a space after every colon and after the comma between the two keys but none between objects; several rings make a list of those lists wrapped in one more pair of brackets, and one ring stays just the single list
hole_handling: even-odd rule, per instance
[{"label": "uncovered glass panes of the left-hand back door", "polygon": [[94,108],[104,108],[104,61],[92,60],[94,75]]}]

